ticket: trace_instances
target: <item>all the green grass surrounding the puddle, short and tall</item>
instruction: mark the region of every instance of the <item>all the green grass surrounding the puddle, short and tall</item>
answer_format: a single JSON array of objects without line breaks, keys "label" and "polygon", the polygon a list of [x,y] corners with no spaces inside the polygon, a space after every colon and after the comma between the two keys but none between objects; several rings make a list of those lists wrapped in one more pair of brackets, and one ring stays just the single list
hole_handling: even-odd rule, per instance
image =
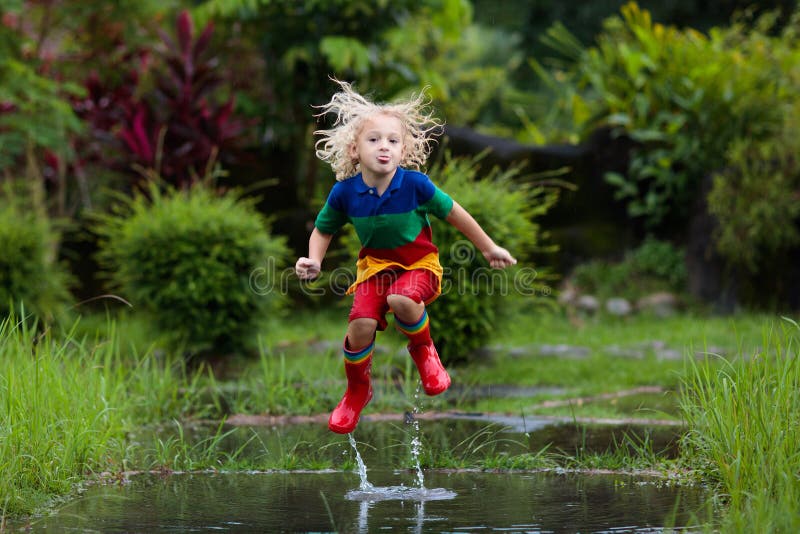
[{"label": "all the green grass surrounding the puddle, short and tall", "polygon": [[[232,358],[211,372],[187,369],[165,354],[135,316],[89,316],[68,331],[41,332],[9,319],[0,325],[0,502],[4,516],[40,512],[100,472],[195,469],[320,469],[350,466],[333,458],[335,436],[265,443],[257,433],[228,446],[231,431],[190,435],[193,420],[227,414],[327,413],[344,391],[341,310],[298,314],[264,325],[258,354]],[[500,347],[569,344],[586,347],[583,359],[531,353],[492,357],[450,368],[461,394],[421,396],[426,411],[505,412],[566,417],[683,417],[688,425],[679,460],[666,460],[647,439],[625,438],[603,452],[564,453],[531,443],[509,444],[486,427],[451,442],[427,443],[426,467],[485,469],[688,469],[716,484],[729,513],[725,531],[789,531],[800,505],[800,367],[798,328],[776,317],[675,316],[668,319],[601,317],[579,325],[558,314],[520,313],[498,329]],[[319,351],[313,342],[326,342]],[[651,350],[621,357],[653,341],[687,358],[661,360]],[[410,411],[417,401],[416,371],[402,353],[404,340],[382,333],[375,356],[381,387],[370,413]],[[722,356],[698,357],[706,350]],[[470,398],[470,388],[511,385],[560,388],[523,398]],[[652,385],[665,393],[567,402]],[[446,398],[446,399],[445,399]],[[179,423],[176,423],[179,422]],[[576,424],[576,431],[581,426]],[[366,430],[366,429],[365,429]],[[368,432],[368,430],[366,430]],[[241,430],[239,431],[241,433]],[[377,435],[370,445],[399,447]],[[455,438],[454,438],[455,439]],[[335,445],[339,443],[339,445]],[[520,453],[509,453],[515,445]],[[402,463],[402,461],[401,461]]]}]

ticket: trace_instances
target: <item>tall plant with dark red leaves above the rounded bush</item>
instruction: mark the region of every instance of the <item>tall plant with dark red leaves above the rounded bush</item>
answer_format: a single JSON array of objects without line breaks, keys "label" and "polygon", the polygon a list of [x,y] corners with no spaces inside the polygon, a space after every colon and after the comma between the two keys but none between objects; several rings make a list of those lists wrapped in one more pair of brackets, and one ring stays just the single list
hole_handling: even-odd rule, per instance
[{"label": "tall plant with dark red leaves above the rounded bush", "polygon": [[162,32],[154,90],[129,102],[119,136],[132,163],[187,187],[217,159],[235,158],[246,124],[233,115],[233,96],[224,103],[213,99],[223,81],[217,58],[208,53],[213,24],[195,39],[191,16],[183,11],[176,26],[177,41]]}]

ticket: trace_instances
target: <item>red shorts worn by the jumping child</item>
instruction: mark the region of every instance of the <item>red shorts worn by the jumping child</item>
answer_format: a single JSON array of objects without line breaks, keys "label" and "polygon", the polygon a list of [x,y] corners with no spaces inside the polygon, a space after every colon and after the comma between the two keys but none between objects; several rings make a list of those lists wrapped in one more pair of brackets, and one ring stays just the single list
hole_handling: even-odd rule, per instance
[{"label": "red shorts worn by the jumping child", "polygon": [[386,330],[389,295],[403,295],[414,302],[430,302],[439,290],[439,278],[427,269],[386,270],[367,278],[356,287],[349,320],[375,319],[378,330]]}]

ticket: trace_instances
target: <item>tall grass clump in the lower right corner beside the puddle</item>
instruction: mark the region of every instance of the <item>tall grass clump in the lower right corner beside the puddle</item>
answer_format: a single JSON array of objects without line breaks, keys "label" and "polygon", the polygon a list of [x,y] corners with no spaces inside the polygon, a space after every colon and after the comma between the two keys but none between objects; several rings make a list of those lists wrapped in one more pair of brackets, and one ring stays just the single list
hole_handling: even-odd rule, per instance
[{"label": "tall grass clump in the lower right corner beside the puddle", "polygon": [[686,463],[718,485],[724,532],[800,530],[800,327],[772,324],[761,350],[692,362]]}]

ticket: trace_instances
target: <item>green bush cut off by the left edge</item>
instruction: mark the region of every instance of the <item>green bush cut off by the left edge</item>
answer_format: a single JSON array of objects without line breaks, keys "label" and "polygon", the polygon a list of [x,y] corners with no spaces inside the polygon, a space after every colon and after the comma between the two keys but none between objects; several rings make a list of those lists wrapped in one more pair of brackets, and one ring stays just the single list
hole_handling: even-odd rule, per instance
[{"label": "green bush cut off by the left edge", "polygon": [[22,306],[41,320],[66,309],[69,275],[56,261],[59,234],[40,210],[0,195],[0,316]]}]

